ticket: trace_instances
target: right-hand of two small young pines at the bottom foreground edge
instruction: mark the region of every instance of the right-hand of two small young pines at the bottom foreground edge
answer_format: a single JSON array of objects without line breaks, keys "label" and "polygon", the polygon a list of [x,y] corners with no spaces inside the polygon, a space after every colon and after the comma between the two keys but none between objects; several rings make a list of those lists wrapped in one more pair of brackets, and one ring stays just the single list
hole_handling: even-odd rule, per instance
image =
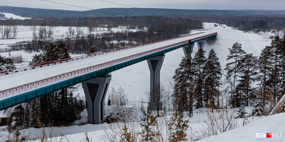
[{"label": "right-hand of two small young pines at the bottom foreground edge", "polygon": [[184,121],[181,115],[175,113],[168,122],[168,129],[171,131],[171,141],[186,141],[186,131],[189,127],[188,121]]}]

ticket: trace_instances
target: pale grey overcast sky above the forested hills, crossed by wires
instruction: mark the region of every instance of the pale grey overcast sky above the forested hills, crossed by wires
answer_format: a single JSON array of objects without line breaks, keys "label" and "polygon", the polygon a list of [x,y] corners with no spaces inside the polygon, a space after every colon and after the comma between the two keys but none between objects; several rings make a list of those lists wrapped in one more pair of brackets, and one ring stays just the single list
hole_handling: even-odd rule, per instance
[{"label": "pale grey overcast sky above the forested hills, crossed by wires", "polygon": [[[92,9],[126,7],[99,0],[48,0]],[[140,8],[171,9],[270,9],[285,10],[285,0],[105,0]],[[90,10],[41,0],[0,0],[0,4],[16,7]]]}]

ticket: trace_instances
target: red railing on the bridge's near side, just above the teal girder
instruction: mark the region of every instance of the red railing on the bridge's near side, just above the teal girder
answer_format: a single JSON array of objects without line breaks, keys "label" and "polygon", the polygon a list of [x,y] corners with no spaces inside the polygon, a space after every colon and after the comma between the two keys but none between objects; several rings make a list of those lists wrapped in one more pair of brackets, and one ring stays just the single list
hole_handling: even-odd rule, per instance
[{"label": "red railing on the bridge's near side, just above the teal girder", "polygon": [[[206,36],[213,35],[213,34],[216,34],[216,33],[207,34],[207,35],[195,38],[195,39],[204,38]],[[26,92],[28,90],[33,90],[35,88],[43,87],[43,86],[46,86],[48,84],[53,84],[53,83],[61,81],[61,80],[66,80],[66,79],[72,78],[74,76],[86,74],[86,73],[92,72],[94,70],[99,70],[101,68],[106,68],[108,66],[119,64],[119,63],[122,63],[122,62],[125,62],[125,61],[128,61],[128,60],[132,60],[134,58],[138,58],[138,57],[145,56],[147,54],[151,54],[151,53],[154,53],[154,52],[157,52],[157,51],[161,51],[161,50],[173,47],[173,46],[184,44],[186,42],[189,42],[189,40],[186,40],[186,41],[183,41],[183,42],[178,42],[178,43],[171,44],[171,45],[168,45],[168,46],[163,46],[161,48],[156,48],[156,49],[153,49],[153,50],[149,50],[149,51],[138,53],[138,54],[131,55],[131,56],[128,56],[128,57],[120,58],[120,59],[113,60],[113,61],[110,61],[110,62],[105,62],[103,64],[91,66],[91,67],[84,68],[84,69],[81,69],[81,70],[76,70],[76,71],[69,72],[69,73],[66,73],[66,74],[62,74],[62,75],[59,75],[59,76],[54,76],[52,78],[47,78],[47,79],[44,79],[44,80],[40,80],[40,81],[37,81],[37,82],[33,82],[33,83],[30,83],[30,84],[26,84],[26,85],[23,85],[23,86],[12,88],[12,89],[9,89],[9,90],[5,90],[5,91],[0,92],[0,99],[8,97],[8,96],[15,95],[15,94],[18,94],[18,93]]]}]

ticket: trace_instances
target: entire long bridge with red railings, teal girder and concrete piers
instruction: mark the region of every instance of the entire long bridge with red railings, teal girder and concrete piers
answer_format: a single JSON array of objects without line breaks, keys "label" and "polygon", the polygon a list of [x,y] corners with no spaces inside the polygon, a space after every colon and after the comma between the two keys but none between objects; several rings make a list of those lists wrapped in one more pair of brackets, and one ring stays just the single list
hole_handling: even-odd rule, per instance
[{"label": "entire long bridge with red railings, teal girder and concrete piers", "polygon": [[[183,48],[185,56],[205,45],[217,32],[200,32],[114,50],[57,60],[0,72],[0,110],[82,83],[87,100],[88,123],[104,121],[104,102],[111,72],[147,60],[150,91],[159,86],[165,53]],[[151,93],[152,94],[152,93]],[[92,104],[92,105],[91,105]],[[155,93],[149,106],[155,108]]]}]

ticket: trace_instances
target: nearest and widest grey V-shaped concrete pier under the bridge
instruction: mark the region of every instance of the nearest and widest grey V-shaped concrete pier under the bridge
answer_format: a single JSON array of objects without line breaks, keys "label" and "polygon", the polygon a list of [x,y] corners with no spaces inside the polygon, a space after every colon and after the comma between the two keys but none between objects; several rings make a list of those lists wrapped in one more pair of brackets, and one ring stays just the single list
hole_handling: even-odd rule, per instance
[{"label": "nearest and widest grey V-shaped concrete pier under the bridge", "polygon": [[105,97],[111,75],[99,76],[82,82],[87,100],[88,123],[100,124],[105,120]]}]

